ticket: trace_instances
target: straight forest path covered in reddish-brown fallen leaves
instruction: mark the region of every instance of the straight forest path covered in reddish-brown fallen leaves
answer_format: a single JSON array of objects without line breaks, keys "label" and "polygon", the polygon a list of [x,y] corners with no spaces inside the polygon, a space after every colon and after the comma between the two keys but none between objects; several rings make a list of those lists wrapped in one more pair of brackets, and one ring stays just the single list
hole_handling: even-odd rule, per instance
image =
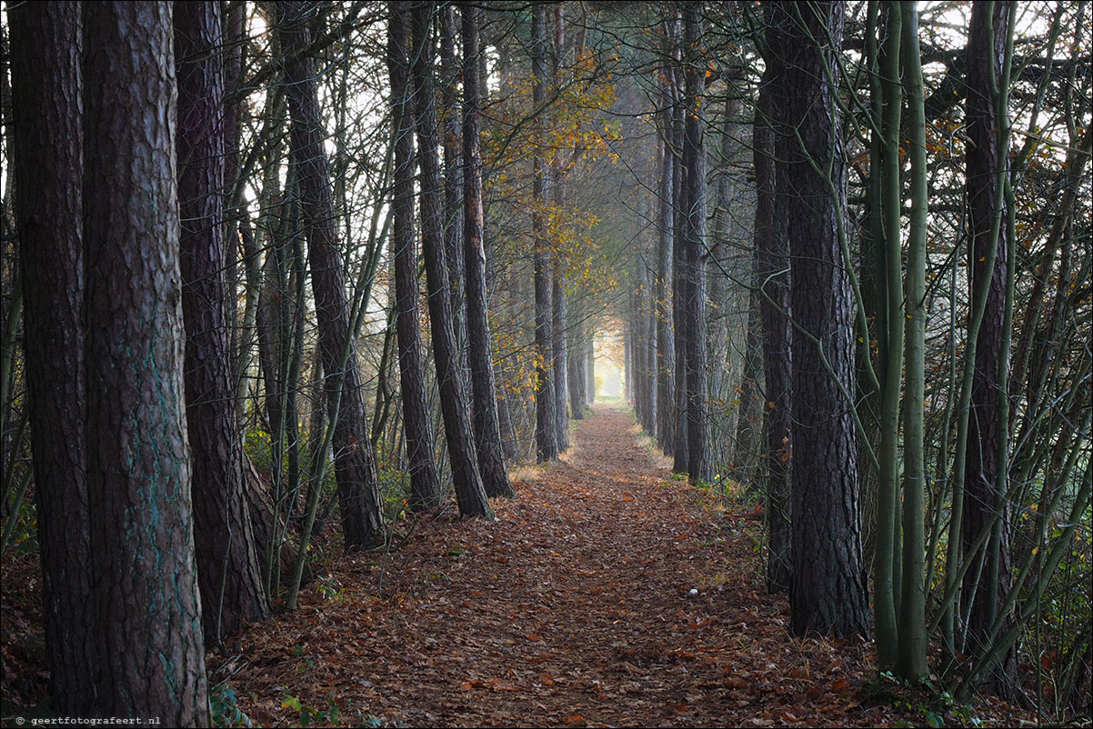
[{"label": "straight forest path covered in reddish-brown fallen leaves", "polygon": [[894,720],[860,706],[869,646],[788,635],[757,519],[673,480],[628,411],[597,405],[574,440],[495,499],[497,521],[428,520],[398,551],[339,560],[212,681],[234,672],[240,708],[274,725],[299,721],[285,696],[334,701],[345,726]]}]

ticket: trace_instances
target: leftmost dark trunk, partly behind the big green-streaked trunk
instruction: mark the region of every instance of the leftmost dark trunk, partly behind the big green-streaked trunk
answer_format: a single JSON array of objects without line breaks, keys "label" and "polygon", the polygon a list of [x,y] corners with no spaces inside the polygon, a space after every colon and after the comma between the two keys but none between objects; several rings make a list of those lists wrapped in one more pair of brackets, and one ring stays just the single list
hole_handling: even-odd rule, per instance
[{"label": "leftmost dark trunk, partly behind the big green-streaked trunk", "polygon": [[46,657],[54,710],[85,716],[95,697],[97,655],[87,603],[81,5],[21,3],[8,12],[14,113],[8,142],[23,269]]}]

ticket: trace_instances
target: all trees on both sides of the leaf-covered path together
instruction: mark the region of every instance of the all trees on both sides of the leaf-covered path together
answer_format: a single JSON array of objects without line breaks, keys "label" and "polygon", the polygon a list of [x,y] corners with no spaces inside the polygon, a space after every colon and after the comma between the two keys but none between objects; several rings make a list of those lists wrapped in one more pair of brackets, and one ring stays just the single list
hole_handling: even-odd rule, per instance
[{"label": "all trees on both sides of the leaf-covered path together", "polygon": [[1080,705],[1089,5],[969,8],[5,5],[2,539],[55,708],[204,724],[316,537],[490,518],[612,327],[675,469],[763,499],[795,632]]}]

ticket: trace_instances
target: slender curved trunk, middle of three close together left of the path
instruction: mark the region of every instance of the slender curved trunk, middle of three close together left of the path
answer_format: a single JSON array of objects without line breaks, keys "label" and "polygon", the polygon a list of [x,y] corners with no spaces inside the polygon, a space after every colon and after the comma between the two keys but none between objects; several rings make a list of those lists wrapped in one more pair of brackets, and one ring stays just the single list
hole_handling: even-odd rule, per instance
[{"label": "slender curved trunk, middle of three close together left of the path", "polygon": [[433,361],[440,386],[444,433],[451,461],[459,513],[463,516],[493,518],[493,509],[482,485],[474,452],[474,434],[467,397],[459,349],[451,326],[451,298],[448,293],[448,268],[444,249],[444,209],[440,165],[436,133],[436,92],[433,83],[432,17],[433,3],[424,2],[411,11],[413,97],[416,111],[418,158],[421,164],[421,247],[428,284],[428,315],[433,325]]}]

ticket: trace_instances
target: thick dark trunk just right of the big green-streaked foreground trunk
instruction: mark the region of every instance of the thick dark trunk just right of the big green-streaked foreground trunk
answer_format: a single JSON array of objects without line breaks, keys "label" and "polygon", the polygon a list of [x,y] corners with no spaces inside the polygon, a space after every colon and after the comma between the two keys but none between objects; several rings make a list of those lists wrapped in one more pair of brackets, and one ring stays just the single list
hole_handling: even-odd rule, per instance
[{"label": "thick dark trunk just right of the big green-streaked foreground trunk", "polygon": [[266,615],[228,346],[219,3],[175,3],[186,423],[205,645]]}]

